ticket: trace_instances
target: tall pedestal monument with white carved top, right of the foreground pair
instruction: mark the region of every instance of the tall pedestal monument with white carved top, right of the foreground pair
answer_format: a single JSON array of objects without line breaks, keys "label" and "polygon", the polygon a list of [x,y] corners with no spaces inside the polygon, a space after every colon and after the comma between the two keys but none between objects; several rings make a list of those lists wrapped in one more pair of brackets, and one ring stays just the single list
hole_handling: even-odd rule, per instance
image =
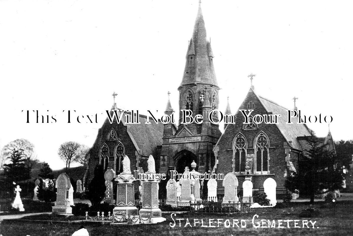
[{"label": "tall pedestal monument with white carved top, right of the foreground pair", "polygon": [[139,215],[143,223],[155,224],[165,221],[166,218],[162,217],[162,211],[159,208],[159,185],[155,178],[155,160],[152,155],[149,156],[147,164],[148,170],[146,174],[148,175],[148,178],[143,180],[142,208],[140,209]]}]

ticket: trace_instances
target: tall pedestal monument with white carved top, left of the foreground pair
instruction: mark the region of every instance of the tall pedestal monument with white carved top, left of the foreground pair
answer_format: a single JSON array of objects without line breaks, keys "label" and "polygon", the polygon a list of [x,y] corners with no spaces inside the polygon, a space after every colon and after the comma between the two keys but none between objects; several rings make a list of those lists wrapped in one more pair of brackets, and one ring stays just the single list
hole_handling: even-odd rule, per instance
[{"label": "tall pedestal monument with white carved top, left of the foreground pair", "polygon": [[[116,189],[116,207],[113,209],[113,217],[116,220],[121,220],[124,215],[138,215],[137,207],[135,206],[134,181],[135,178],[131,174],[130,159],[124,155],[122,160],[122,173],[115,178],[118,182]],[[112,223],[116,224],[116,223]]]}]

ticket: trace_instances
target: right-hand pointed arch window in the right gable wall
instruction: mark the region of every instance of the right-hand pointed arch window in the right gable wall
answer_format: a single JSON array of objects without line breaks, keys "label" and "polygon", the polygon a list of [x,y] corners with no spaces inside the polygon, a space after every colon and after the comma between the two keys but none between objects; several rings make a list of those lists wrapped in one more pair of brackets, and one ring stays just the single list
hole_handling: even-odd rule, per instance
[{"label": "right-hand pointed arch window in the right gable wall", "polygon": [[269,139],[263,132],[257,135],[254,140],[254,147],[256,153],[256,173],[269,173]]}]

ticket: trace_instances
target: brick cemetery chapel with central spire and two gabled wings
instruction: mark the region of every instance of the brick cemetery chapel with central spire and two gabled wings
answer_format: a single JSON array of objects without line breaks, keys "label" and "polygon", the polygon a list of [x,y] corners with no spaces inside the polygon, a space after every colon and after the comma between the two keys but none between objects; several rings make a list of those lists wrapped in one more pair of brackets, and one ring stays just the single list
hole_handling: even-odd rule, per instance
[{"label": "brick cemetery chapel with central spire and two gabled wings", "polygon": [[[252,109],[252,115],[280,114],[286,117],[287,114],[285,108],[257,95],[251,86],[234,115],[235,124],[228,124],[222,134],[219,125],[209,121],[211,110],[219,108],[220,87],[217,84],[213,58],[199,3],[193,34],[187,48],[184,76],[178,87],[178,109],[189,109],[193,115],[202,114],[203,123],[180,125],[179,120],[177,127],[173,123],[156,124],[151,118],[150,124],[145,124],[147,118],[143,115],[139,115],[140,124],[126,124],[126,120],[119,124],[110,124],[107,119],[99,129],[87,156],[89,161],[84,179],[86,190],[89,190],[89,183],[94,178],[97,167],[101,167],[102,171],[110,167],[118,175],[122,172],[123,156],[127,155],[130,158],[131,171],[144,172],[147,170],[147,159],[152,155],[155,158],[156,172],[167,176],[169,170],[176,170],[178,173],[183,173],[185,167],[191,170],[191,163],[195,161],[199,173],[235,173],[239,180],[238,191],[241,191],[245,180],[252,181],[254,189],[263,190],[264,181],[273,178],[277,183],[277,193],[283,192],[288,173],[298,170],[305,137],[311,136],[313,132],[305,124],[285,124],[285,119],[280,119],[278,124],[257,125],[252,119],[250,124],[243,124],[244,117],[239,109]],[[115,98],[115,93],[113,96]],[[114,101],[112,110],[116,109],[118,108]],[[165,114],[170,115],[173,111],[168,98]],[[232,114],[229,102],[224,114]],[[217,119],[218,115],[214,114],[214,120]],[[331,136],[324,140],[333,144]],[[166,197],[167,181],[168,178],[160,182],[160,198]],[[136,183],[135,192],[138,191],[138,185]],[[201,185],[204,186],[202,192],[207,194],[207,184],[202,182]],[[222,181],[218,181],[217,194],[223,193]]]}]

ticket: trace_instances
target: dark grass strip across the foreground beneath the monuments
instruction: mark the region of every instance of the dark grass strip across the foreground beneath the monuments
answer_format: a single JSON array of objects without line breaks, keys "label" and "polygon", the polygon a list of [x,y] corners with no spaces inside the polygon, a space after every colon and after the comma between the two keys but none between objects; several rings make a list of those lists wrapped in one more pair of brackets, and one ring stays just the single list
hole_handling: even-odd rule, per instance
[{"label": "dark grass strip across the foreground beneath the monuments", "polygon": [[[312,210],[306,210],[311,208]],[[31,235],[72,235],[72,233],[82,226],[89,231],[90,236],[93,235],[352,235],[353,231],[353,217],[352,210],[353,201],[339,201],[335,204],[329,204],[327,202],[315,202],[312,206],[306,203],[292,203],[283,208],[258,208],[252,209],[252,212],[247,213],[235,213],[235,214],[215,214],[215,213],[189,213],[189,214],[177,214],[173,216],[175,220],[175,227],[170,227],[170,224],[174,225],[170,214],[164,214],[163,217],[167,218],[166,222],[154,224],[154,225],[97,225],[97,224],[64,224],[64,223],[31,223],[31,222],[20,222],[15,220],[7,220],[2,222],[1,234],[4,236],[16,235],[16,236],[26,236]],[[268,220],[273,224],[275,220],[276,228],[254,228],[252,225],[252,218],[257,214],[259,217],[255,218],[255,224],[261,224],[261,219],[264,219],[264,226],[268,227]],[[179,227],[179,221],[176,218],[183,218],[181,221],[181,227]],[[34,218],[33,218],[34,219]],[[187,223],[186,219],[189,220],[190,225]],[[196,222],[196,227],[194,227],[194,219]],[[216,227],[201,227],[201,219],[203,219],[204,225],[209,224],[210,219],[213,223],[212,226]],[[217,219],[220,220],[220,226],[217,227]],[[225,227],[225,221],[229,219],[230,228]],[[246,228],[238,228],[234,225],[235,222],[239,220],[239,227],[241,227],[241,219],[246,222]],[[297,220],[297,227],[294,228],[294,221],[282,222],[281,220]],[[280,220],[283,228],[278,228],[278,220]],[[308,220],[308,226],[304,225],[303,220]],[[309,222],[316,223],[314,228]],[[243,225],[244,225],[243,222]],[[306,221],[305,221],[306,222]],[[289,223],[290,228],[287,228]],[[319,228],[317,228],[319,227]]]}]

